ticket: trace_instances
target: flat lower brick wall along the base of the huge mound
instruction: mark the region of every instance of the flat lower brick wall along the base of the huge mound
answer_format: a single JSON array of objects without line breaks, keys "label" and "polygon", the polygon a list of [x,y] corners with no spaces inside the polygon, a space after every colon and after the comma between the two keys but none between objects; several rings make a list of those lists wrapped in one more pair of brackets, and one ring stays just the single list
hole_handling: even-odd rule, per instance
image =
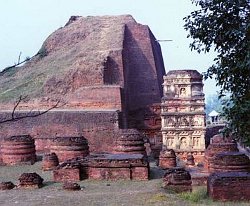
[{"label": "flat lower brick wall along the base of the huge mound", "polygon": [[[6,112],[0,112],[5,116]],[[25,115],[21,113],[20,115]],[[56,136],[79,136],[88,139],[90,151],[112,152],[114,130],[119,127],[117,111],[51,111],[36,118],[2,124],[0,138],[17,134],[30,134],[35,139],[38,152],[50,152]]]}]

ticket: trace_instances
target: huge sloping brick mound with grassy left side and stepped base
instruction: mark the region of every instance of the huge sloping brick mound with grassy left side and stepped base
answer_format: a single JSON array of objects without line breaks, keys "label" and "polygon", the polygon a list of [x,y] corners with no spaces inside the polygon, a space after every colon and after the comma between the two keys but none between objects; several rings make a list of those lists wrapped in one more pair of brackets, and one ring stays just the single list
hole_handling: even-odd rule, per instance
[{"label": "huge sloping brick mound with grassy left side and stepped base", "polygon": [[49,152],[56,136],[79,135],[91,152],[112,152],[119,128],[158,139],[160,121],[151,108],[161,102],[164,74],[161,48],[148,26],[130,15],[73,16],[26,64],[0,73],[1,119],[11,116],[20,95],[29,100],[19,104],[19,116],[58,101],[62,106],[2,124],[0,137],[30,134],[39,152]]}]

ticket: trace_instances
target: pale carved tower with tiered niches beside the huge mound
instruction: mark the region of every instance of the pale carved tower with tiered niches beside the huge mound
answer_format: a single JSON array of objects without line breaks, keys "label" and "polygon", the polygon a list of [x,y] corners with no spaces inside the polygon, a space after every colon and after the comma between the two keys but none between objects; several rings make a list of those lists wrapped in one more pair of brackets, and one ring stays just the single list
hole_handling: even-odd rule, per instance
[{"label": "pale carved tower with tiered niches beside the huge mound", "polygon": [[163,145],[181,159],[192,154],[202,162],[205,112],[202,75],[196,70],[173,70],[164,76],[161,104]]}]

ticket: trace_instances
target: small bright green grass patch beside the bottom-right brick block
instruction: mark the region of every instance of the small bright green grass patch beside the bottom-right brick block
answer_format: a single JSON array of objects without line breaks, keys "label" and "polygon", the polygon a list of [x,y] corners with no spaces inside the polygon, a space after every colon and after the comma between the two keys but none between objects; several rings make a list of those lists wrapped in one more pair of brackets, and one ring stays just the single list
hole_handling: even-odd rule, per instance
[{"label": "small bright green grass patch beside the bottom-right brick block", "polygon": [[208,198],[206,188],[197,189],[193,192],[183,192],[180,194],[180,198],[183,200],[188,200],[193,203],[201,202],[204,199]]}]

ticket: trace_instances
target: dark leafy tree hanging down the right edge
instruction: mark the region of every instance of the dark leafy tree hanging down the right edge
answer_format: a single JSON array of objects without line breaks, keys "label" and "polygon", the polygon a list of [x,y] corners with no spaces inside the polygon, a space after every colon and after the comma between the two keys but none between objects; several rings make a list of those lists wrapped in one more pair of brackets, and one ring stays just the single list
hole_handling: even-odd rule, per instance
[{"label": "dark leafy tree hanging down the right edge", "polygon": [[192,0],[199,7],[184,18],[191,50],[217,57],[205,78],[214,77],[224,104],[227,131],[250,145],[250,0]]}]

